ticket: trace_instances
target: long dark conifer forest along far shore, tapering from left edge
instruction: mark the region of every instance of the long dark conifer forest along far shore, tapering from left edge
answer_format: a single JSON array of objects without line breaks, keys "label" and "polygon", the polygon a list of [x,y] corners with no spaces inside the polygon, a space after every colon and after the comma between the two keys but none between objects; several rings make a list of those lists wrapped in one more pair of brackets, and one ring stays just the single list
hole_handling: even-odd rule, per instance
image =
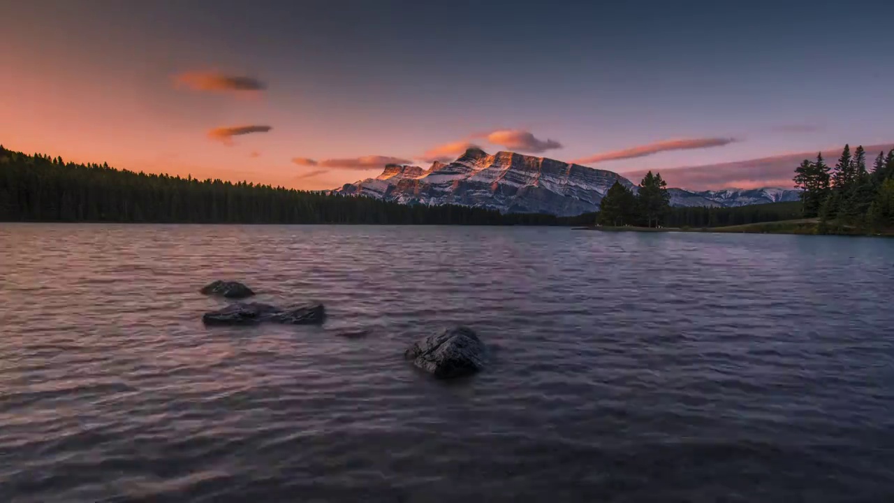
[{"label": "long dark conifer forest along far shore, tapering from left edge", "polygon": [[254,183],[74,164],[0,146],[0,221],[221,224],[555,225],[551,215],[407,206]]}]

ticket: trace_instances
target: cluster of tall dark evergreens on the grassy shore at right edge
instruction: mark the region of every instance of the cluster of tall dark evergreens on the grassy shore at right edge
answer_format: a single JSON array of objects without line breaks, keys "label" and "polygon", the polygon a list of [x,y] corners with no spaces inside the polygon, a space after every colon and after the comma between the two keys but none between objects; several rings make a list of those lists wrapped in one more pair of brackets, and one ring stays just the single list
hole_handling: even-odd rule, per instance
[{"label": "cluster of tall dark evergreens on the grassy shore at right edge", "polygon": [[835,166],[822,154],[795,169],[804,217],[819,217],[822,234],[864,234],[894,228],[894,149],[866,168],[866,152],[845,145]]}]

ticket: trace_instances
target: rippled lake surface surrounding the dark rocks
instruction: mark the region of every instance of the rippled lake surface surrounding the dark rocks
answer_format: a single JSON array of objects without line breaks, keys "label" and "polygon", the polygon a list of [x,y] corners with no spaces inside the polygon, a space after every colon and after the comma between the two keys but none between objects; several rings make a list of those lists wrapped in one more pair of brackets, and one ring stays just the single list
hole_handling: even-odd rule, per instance
[{"label": "rippled lake surface surrounding the dark rocks", "polygon": [[[894,501],[891,240],[0,225],[0,273],[0,501]],[[329,318],[205,328],[215,278]],[[486,371],[403,361],[456,323]]]}]

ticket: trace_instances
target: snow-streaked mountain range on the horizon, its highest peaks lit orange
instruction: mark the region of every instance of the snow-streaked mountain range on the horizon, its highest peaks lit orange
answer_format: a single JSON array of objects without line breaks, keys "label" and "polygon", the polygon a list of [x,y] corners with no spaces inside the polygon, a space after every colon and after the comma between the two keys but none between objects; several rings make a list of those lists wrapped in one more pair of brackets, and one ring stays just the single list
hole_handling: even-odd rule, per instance
[{"label": "snow-streaked mountain range on the horizon, its highest peaks lit orange", "polygon": [[[333,192],[403,204],[461,204],[502,213],[573,217],[598,210],[615,181],[636,190],[627,178],[612,171],[514,152],[491,155],[473,148],[450,164],[434,162],[426,170],[388,165],[375,178],[345,183]],[[772,188],[669,192],[671,206],[731,207],[797,200],[797,191]]]}]

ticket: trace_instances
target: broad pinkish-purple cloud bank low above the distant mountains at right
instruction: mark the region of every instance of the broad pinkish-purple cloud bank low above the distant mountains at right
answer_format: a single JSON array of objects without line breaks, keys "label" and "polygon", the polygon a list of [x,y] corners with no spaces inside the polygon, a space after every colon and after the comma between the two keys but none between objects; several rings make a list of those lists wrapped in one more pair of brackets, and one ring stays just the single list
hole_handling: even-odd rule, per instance
[{"label": "broad pinkish-purple cloud bank low above the distant mountains at right", "polygon": [[[870,145],[865,147],[867,152],[888,151],[892,145]],[[830,165],[835,164],[835,158],[841,154],[841,149],[823,149],[822,157]],[[816,158],[816,152],[802,152],[799,154],[784,154],[769,158],[757,158],[744,161],[736,161],[722,164],[704,166],[685,166],[671,169],[661,169],[664,178],[671,187],[680,187],[691,190],[722,189],[735,187],[738,189],[753,189],[756,187],[783,187],[794,186],[791,181],[795,175],[795,168],[804,159]],[[652,170],[653,172],[656,170]],[[638,183],[645,175],[645,170],[622,173],[633,183]]]}]

